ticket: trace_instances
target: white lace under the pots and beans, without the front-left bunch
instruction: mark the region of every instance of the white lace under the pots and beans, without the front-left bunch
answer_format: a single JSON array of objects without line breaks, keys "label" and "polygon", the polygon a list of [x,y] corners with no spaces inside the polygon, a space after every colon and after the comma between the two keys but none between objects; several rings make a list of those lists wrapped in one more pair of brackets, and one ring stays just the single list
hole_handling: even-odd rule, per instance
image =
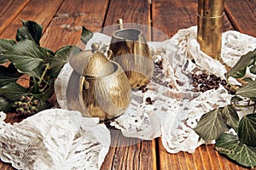
[{"label": "white lace under the pots and beans, without the front-left bunch", "polygon": [[[106,52],[110,39],[107,35],[94,33],[86,49],[90,48],[92,42],[99,42],[102,52]],[[234,65],[242,54],[256,48],[255,37],[238,31],[224,32],[222,43],[221,57],[224,63],[230,66]],[[194,93],[191,91],[189,75],[191,72],[206,71],[224,78],[226,69],[218,60],[201,52],[196,41],[196,26],[180,30],[164,42],[148,42],[148,45],[154,59],[164,59],[165,77],[162,77],[161,81],[172,82],[173,88],[150,82],[147,92],[133,91],[131,105],[123,115],[111,122],[111,125],[120,129],[126,137],[145,140],[161,137],[164,147],[170,153],[193,153],[204,141],[192,128],[207,111],[228,105],[231,95],[222,86],[217,90]],[[67,109],[67,80],[72,71],[69,64],[65,65],[55,82],[57,100],[63,109]],[[235,79],[230,82],[239,83]],[[152,105],[147,104],[148,97],[154,100]]]}]

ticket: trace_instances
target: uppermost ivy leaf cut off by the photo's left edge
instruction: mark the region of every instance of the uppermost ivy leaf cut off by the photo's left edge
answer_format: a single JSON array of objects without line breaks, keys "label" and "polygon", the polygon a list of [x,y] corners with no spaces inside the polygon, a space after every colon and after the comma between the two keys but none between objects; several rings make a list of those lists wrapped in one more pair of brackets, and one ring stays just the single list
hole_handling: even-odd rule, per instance
[{"label": "uppermost ivy leaf cut off by the photo's left edge", "polygon": [[0,64],[9,61],[3,54],[15,45],[14,40],[0,39]]}]

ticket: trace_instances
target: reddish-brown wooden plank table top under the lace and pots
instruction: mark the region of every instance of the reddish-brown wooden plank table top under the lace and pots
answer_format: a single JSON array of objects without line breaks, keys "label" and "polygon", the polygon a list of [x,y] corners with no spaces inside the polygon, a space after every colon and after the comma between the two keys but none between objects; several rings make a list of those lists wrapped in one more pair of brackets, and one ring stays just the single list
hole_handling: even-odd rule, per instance
[{"label": "reddish-brown wooden plank table top under the lace and pots", "polygon": [[[226,0],[224,31],[236,30],[256,37],[256,1]],[[67,44],[80,42],[81,27],[98,31],[116,24],[139,23],[172,37],[179,29],[196,26],[196,0],[0,0],[0,38],[15,39],[21,20],[34,20],[44,26],[41,46],[55,51]],[[166,37],[146,31],[148,41]],[[20,122],[10,113],[7,122]],[[102,165],[105,169],[246,169],[214,150],[214,145],[201,145],[194,154],[169,154],[161,139],[139,141],[112,131],[112,147]],[[131,145],[132,144],[132,145]],[[0,161],[0,169],[13,169]]]}]

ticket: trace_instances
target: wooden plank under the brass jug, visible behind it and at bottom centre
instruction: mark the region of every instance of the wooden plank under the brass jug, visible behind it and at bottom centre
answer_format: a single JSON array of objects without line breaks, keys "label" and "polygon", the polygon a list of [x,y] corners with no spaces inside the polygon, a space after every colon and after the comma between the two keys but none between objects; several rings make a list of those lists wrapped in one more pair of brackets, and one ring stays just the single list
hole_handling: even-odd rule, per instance
[{"label": "wooden plank under the brass jug, visible behind it and at bottom centre", "polygon": [[[119,18],[123,19],[125,28],[141,29],[145,37],[151,40],[150,4],[147,0],[110,1],[102,32],[111,36],[113,31],[118,29],[116,23]],[[157,168],[154,140],[140,141],[138,139],[125,138],[119,131],[111,134],[116,143],[113,144],[114,147],[110,148],[108,156],[102,165],[102,170]],[[123,147],[120,147],[122,145]]]}]

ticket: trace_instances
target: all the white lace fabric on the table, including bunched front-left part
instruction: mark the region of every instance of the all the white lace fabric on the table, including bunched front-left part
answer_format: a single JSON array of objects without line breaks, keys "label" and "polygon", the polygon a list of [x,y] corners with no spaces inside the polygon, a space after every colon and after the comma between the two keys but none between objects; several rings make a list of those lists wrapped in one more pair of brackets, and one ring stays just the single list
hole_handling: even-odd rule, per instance
[{"label": "all the white lace fabric on the table, including bunched front-left part", "polygon": [[[94,33],[86,47],[92,42],[99,42],[105,49],[110,37]],[[161,80],[172,82],[173,87],[150,82],[145,93],[133,91],[131,105],[111,125],[126,137],[145,140],[161,137],[170,153],[193,153],[204,143],[193,127],[207,111],[229,104],[231,95],[222,86],[194,93],[189,75],[206,71],[224,78],[224,65],[201,52],[196,41],[196,26],[180,30],[164,42],[148,44],[154,59],[164,59],[165,77]],[[234,65],[242,54],[254,48],[255,37],[238,31],[223,33],[222,59],[226,65]],[[97,118],[82,117],[79,111],[66,111],[67,82],[72,71],[67,63],[55,81],[55,94],[61,109],[42,111],[14,125],[3,122],[5,115],[0,114],[0,157],[3,161],[11,162],[18,169],[101,167],[108,153],[110,134],[105,125],[98,124]],[[147,98],[154,100],[152,105],[146,102]]]}]

